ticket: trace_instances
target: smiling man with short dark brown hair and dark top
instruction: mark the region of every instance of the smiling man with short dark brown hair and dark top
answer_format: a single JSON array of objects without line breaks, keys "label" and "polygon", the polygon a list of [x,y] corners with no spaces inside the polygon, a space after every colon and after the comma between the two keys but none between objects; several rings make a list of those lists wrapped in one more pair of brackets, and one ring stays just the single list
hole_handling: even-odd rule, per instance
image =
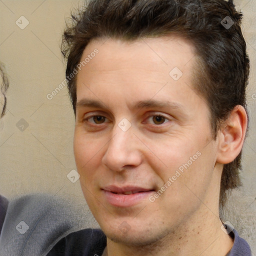
[{"label": "smiling man with short dark brown hair and dark top", "polygon": [[74,156],[99,229],[48,255],[251,255],[240,185],[249,73],[232,0],[90,0],[63,36]]}]

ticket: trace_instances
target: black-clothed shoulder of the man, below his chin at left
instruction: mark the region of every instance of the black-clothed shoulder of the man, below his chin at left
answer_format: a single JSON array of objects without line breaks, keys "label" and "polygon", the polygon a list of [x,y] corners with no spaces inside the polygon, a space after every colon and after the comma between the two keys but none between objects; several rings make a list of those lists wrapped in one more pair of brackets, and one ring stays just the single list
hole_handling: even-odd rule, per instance
[{"label": "black-clothed shoulder of the man, below his chin at left", "polygon": [[100,256],[105,246],[106,236],[102,230],[86,228],[63,237],[52,247],[47,256]]}]

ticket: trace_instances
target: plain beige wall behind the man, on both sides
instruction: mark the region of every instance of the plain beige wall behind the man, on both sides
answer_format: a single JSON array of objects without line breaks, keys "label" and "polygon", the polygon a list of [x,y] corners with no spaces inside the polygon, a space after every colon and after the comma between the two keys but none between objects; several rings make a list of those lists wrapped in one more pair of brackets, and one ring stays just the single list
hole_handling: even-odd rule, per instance
[{"label": "plain beige wall behind the man, on both sides", "polygon": [[[0,120],[0,193],[8,198],[50,192],[86,207],[79,182],[67,178],[76,167],[74,117],[66,87],[47,98],[65,78],[60,38],[65,17],[79,2],[0,0],[0,61],[10,81],[8,111]],[[243,149],[244,186],[232,193],[223,220],[235,226],[256,255],[256,5],[255,0],[234,2],[244,13],[243,33],[251,59],[250,131]]]}]

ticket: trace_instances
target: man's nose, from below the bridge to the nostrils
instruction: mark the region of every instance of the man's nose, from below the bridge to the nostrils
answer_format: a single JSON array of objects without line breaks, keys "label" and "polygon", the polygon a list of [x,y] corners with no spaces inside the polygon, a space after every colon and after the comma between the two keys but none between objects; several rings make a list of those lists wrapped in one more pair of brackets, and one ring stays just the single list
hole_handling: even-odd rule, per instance
[{"label": "man's nose, from below the bridge to the nostrils", "polygon": [[133,133],[132,127],[122,131],[116,126],[112,134],[113,137],[102,157],[102,163],[115,171],[121,171],[127,166],[138,166],[142,162],[141,142]]}]

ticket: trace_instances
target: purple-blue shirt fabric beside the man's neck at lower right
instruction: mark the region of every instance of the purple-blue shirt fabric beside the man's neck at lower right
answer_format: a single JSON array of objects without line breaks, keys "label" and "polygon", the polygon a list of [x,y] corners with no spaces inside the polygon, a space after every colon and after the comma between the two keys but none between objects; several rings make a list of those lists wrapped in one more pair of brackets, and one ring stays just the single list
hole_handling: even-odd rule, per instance
[{"label": "purple-blue shirt fabric beside the man's neck at lower right", "polygon": [[251,256],[249,244],[238,235],[236,230],[233,229],[233,233],[234,244],[228,256]]}]

